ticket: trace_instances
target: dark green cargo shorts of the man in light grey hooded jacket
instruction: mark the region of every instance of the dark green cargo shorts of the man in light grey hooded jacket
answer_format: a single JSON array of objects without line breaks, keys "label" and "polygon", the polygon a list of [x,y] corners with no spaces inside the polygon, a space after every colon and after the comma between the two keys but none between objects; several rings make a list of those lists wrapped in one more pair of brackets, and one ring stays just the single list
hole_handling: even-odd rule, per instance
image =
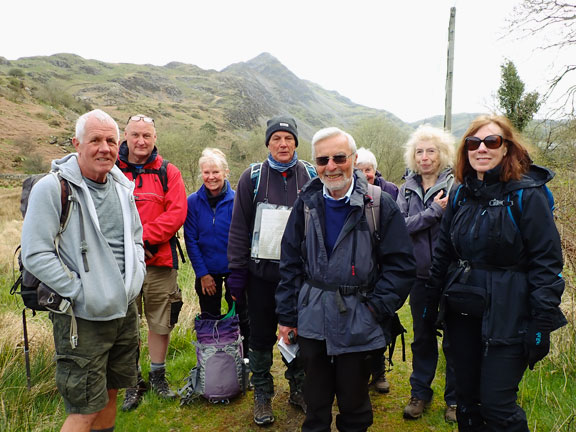
[{"label": "dark green cargo shorts of the man in light grey hooded jacket", "polygon": [[124,318],[87,321],[77,318],[78,346],[70,346],[68,315],[50,313],[56,347],[56,387],[66,413],[92,414],[108,403],[108,390],[136,385],[138,327],[136,304]]}]

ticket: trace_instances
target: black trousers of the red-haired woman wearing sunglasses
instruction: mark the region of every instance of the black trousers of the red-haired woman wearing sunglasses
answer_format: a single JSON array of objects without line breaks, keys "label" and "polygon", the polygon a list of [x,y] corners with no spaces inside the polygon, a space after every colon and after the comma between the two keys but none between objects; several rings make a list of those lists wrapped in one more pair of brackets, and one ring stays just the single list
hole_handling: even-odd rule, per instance
[{"label": "black trousers of the red-haired woman wearing sunglasses", "polygon": [[526,413],[516,403],[527,360],[522,344],[484,346],[482,319],[448,313],[460,432],[527,432]]}]

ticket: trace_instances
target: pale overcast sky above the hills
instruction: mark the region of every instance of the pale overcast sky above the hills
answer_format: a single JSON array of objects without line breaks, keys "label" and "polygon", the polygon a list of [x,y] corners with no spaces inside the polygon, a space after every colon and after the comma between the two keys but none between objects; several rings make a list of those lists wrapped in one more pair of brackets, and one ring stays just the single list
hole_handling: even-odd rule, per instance
[{"label": "pale overcast sky above the hills", "polygon": [[[544,92],[569,54],[514,40],[519,0],[12,0],[0,56],[73,53],[114,63],[179,61],[221,70],[269,52],[298,77],[404,121],[444,113],[450,8],[456,7],[453,113],[495,107],[511,59]],[[90,6],[93,4],[94,6]],[[545,108],[541,110],[544,114]]]}]

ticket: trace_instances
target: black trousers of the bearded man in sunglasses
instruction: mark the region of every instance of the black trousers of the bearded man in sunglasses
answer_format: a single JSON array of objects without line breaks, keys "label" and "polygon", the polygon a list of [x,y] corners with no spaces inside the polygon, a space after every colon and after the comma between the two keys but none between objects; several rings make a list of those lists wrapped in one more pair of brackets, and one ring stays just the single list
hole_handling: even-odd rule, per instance
[{"label": "black trousers of the bearded man in sunglasses", "polygon": [[306,378],[306,419],[302,432],[330,432],[334,397],[340,413],[336,427],[341,432],[363,432],[373,422],[368,394],[370,352],[328,356],[326,342],[298,337]]}]

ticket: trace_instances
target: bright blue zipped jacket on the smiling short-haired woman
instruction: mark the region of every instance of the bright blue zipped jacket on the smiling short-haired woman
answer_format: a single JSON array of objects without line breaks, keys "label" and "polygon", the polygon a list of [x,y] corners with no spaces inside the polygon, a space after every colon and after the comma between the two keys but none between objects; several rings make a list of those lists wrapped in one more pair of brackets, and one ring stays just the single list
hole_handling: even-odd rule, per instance
[{"label": "bright blue zipped jacket on the smiling short-haired woman", "polygon": [[226,250],[234,191],[228,180],[226,186],[226,195],[218,202],[215,211],[210,208],[204,185],[188,197],[184,240],[197,278],[230,272]]}]

